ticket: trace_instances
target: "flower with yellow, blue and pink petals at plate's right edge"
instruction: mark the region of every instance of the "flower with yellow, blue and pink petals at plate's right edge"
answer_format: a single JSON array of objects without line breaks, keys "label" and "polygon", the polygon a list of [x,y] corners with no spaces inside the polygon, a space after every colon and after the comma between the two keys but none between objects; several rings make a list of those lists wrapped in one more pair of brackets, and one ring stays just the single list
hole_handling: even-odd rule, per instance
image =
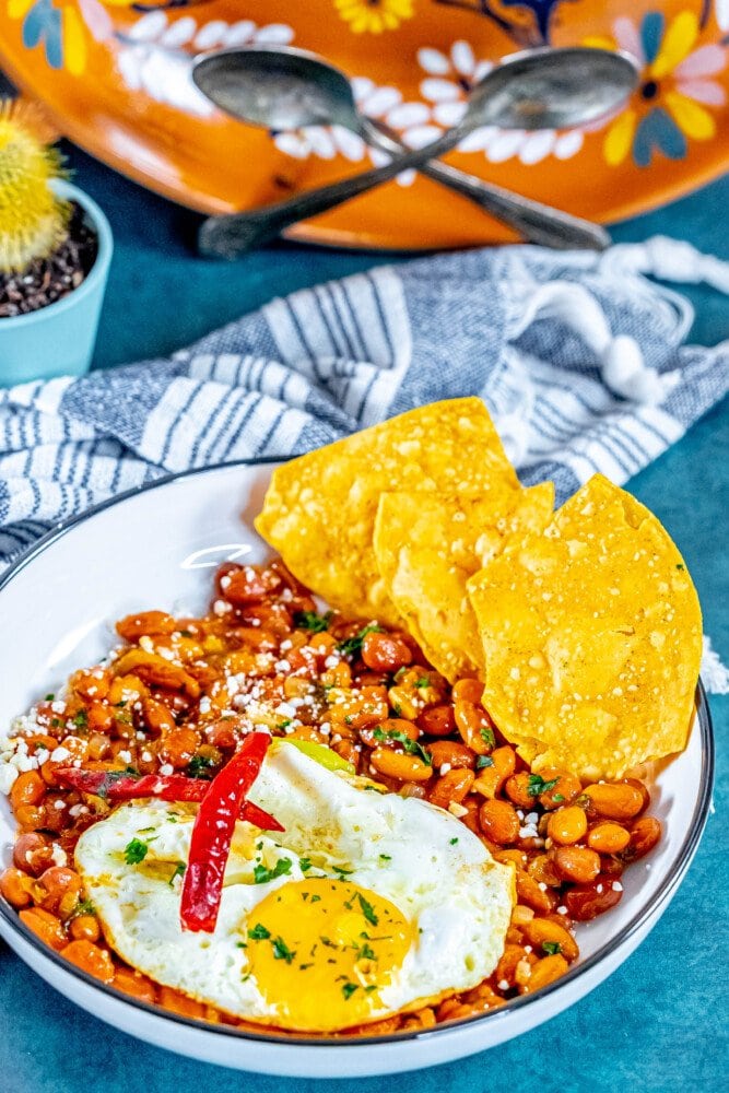
[{"label": "flower with yellow, blue and pink petals at plate's right edge", "polygon": [[679,12],[668,25],[660,12],[648,12],[639,27],[616,20],[614,38],[589,38],[591,46],[624,49],[642,66],[640,85],[631,106],[610,125],[603,144],[607,163],[618,166],[632,152],[638,167],[650,165],[656,149],[670,160],[687,154],[689,140],[710,140],[716,121],[707,106],[721,106],[724,89],[708,79],[726,63],[719,45],[695,49],[699,26],[692,11]]}]

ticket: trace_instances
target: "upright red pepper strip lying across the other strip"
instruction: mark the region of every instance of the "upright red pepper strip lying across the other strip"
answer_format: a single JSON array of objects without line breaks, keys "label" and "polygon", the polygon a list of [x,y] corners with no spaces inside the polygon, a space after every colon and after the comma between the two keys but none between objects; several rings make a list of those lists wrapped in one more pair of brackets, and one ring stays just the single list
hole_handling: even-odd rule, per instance
[{"label": "upright red pepper strip lying across the other strip", "polygon": [[235,820],[270,743],[267,732],[246,737],[240,751],[215,775],[202,798],[183,882],[179,917],[184,930],[212,933],[215,929]]}]

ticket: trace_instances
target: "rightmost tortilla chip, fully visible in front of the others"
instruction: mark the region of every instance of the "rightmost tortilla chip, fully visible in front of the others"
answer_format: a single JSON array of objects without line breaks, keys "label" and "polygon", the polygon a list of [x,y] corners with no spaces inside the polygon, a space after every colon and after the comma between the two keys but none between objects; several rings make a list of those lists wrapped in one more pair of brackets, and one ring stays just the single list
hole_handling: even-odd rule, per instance
[{"label": "rightmost tortilla chip, fully visible in front of the others", "polygon": [[468,585],[483,702],[536,769],[618,778],[687,740],[702,619],[665,528],[602,475]]}]

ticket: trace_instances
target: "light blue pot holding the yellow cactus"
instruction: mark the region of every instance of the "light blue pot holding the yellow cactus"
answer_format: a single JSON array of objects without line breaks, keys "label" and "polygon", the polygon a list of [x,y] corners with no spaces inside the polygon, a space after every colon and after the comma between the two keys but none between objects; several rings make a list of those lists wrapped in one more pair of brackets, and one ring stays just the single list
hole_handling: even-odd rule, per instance
[{"label": "light blue pot holding the yellow cactus", "polygon": [[84,210],[98,238],[96,260],[68,296],[28,315],[0,318],[0,387],[89,371],[111,261],[111,228],[95,201],[70,183],[56,191]]}]

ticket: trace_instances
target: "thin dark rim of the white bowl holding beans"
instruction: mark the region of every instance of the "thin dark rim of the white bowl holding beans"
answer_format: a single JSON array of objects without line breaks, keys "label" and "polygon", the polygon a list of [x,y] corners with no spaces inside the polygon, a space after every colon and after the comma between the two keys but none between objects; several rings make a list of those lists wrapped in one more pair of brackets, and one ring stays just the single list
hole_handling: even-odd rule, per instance
[{"label": "thin dark rim of the white bowl holding beans", "polygon": [[[27,568],[36,557],[43,554],[49,546],[51,546],[58,539],[67,534],[70,530],[84,524],[86,520],[96,516],[97,514],[110,508],[114,505],[121,505],[125,502],[136,497],[140,493],[150,492],[152,490],[157,490],[169,485],[172,482],[177,482],[181,479],[191,478],[198,474],[214,473],[221,470],[226,470],[232,467],[257,467],[267,463],[279,463],[287,459],[293,459],[295,456],[270,456],[270,457],[258,457],[250,459],[237,459],[232,460],[226,463],[214,463],[209,467],[197,467],[192,470],[178,471],[172,474],[165,474],[152,482],[144,483],[141,486],[134,486],[131,490],[126,490],[122,493],[115,494],[111,497],[107,497],[105,501],[98,502],[96,505],[92,505],[90,508],[84,509],[83,513],[77,516],[69,517],[68,519],[60,520],[56,527],[51,528],[45,536],[32,543],[31,546],[19,557],[16,561],[0,576],[0,592],[21,573],[21,571]],[[654,921],[660,916],[660,913],[671,900],[675,889],[683,880],[689,866],[691,865],[692,858],[696,851],[701,837],[703,835],[706,822],[708,820],[710,804],[712,804],[712,794],[714,789],[714,767],[715,767],[715,745],[714,745],[714,729],[712,724],[712,715],[708,706],[708,700],[706,696],[706,691],[702,680],[698,680],[696,686],[696,727],[699,732],[699,743],[701,743],[701,756],[702,756],[702,767],[701,767],[701,778],[699,778],[699,794],[694,807],[694,811],[691,818],[691,823],[686,831],[683,843],[681,844],[680,851],[677,856],[673,868],[663,878],[660,886],[656,890],[650,900],[640,907],[638,912],[630,919],[625,928],[612,938],[610,941],[605,942],[600,947],[595,953],[588,956],[585,961],[578,961],[573,964],[568,972],[556,979],[554,983],[542,987],[540,990],[534,991],[531,995],[521,995],[518,998],[513,998],[507,1001],[504,1006],[498,1009],[489,1010],[485,1013],[479,1013],[470,1018],[462,1018],[458,1021],[446,1022],[439,1025],[435,1025],[432,1029],[424,1030],[413,1030],[410,1032],[398,1032],[391,1033],[389,1035],[379,1036],[352,1036],[352,1037],[333,1037],[333,1036],[322,1036],[322,1037],[307,1037],[307,1036],[296,1036],[290,1034],[273,1035],[271,1033],[257,1033],[249,1030],[236,1029],[231,1025],[214,1024],[208,1021],[198,1020],[196,1018],[183,1016],[178,1013],[173,1013],[169,1010],[152,1004],[149,1002],[142,1002],[139,999],[132,998],[129,995],[125,995],[121,991],[115,990],[113,987],[99,979],[94,978],[89,975],[87,972],[82,971],[82,968],[77,967],[74,964],[57,953],[54,949],[45,945],[33,933],[28,927],[26,927],[17,916],[17,912],[13,908],[1,895],[0,895],[0,917],[4,920],[5,925],[10,928],[11,932],[17,933],[25,942],[27,942],[43,959],[55,964],[61,972],[70,974],[75,978],[80,979],[86,986],[93,987],[95,990],[99,990],[102,994],[114,999],[115,1002],[121,1002],[134,1010],[141,1010],[155,1018],[161,1018],[164,1021],[169,1021],[172,1023],[181,1025],[183,1027],[191,1027],[200,1030],[212,1035],[222,1035],[224,1037],[232,1037],[235,1041],[246,1041],[252,1044],[264,1043],[267,1045],[275,1045],[282,1048],[286,1047],[306,1047],[306,1048],[326,1048],[326,1047],[339,1047],[339,1048],[353,1048],[353,1047],[367,1047],[376,1045],[386,1044],[402,1044],[407,1041],[432,1041],[435,1037],[444,1037],[448,1033],[452,1033],[456,1030],[463,1030],[468,1026],[474,1024],[484,1024],[485,1022],[495,1023],[498,1019],[504,1019],[507,1015],[522,1010],[525,1007],[529,1006],[530,1002],[536,1000],[543,1000],[550,995],[555,995],[557,991],[562,991],[569,987],[572,984],[577,983],[583,976],[587,975],[589,972],[595,969],[603,961],[609,960],[609,957],[615,954],[619,950],[625,947],[626,942],[636,933],[646,927],[647,925],[652,925]],[[588,987],[589,990],[589,987]],[[556,1009],[558,1012],[560,1008]]]}]

